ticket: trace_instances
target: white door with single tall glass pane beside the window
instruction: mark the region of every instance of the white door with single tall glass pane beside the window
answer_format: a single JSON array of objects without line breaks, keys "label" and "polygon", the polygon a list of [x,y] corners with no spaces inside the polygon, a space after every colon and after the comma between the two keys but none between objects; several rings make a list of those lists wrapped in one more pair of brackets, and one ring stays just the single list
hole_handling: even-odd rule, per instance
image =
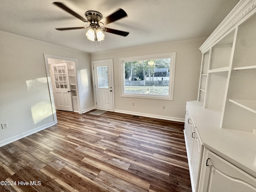
[{"label": "white door with single tall glass pane beside the window", "polygon": [[113,110],[112,62],[93,62],[96,107]]}]

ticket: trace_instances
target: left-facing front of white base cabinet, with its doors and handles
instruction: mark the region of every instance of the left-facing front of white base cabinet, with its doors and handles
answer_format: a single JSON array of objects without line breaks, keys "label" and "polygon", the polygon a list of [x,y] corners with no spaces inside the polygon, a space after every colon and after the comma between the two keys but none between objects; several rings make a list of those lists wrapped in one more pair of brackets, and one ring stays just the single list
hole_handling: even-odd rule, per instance
[{"label": "left-facing front of white base cabinet, with its doors and handles", "polygon": [[192,191],[195,192],[198,184],[198,173],[200,170],[202,142],[188,109],[186,110],[186,122],[184,127],[191,186]]}]

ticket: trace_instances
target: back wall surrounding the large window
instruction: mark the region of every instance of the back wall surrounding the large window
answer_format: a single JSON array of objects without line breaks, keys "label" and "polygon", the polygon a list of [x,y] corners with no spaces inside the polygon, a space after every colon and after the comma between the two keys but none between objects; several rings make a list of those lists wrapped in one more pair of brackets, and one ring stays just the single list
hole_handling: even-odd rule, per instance
[{"label": "back wall surrounding the large window", "polygon": [[[141,116],[184,121],[186,101],[196,100],[201,66],[201,52],[198,49],[206,38],[170,42],[152,46],[116,50],[112,52],[91,54],[91,60],[113,59],[115,111]],[[119,58],[176,52],[174,100],[153,100],[120,97],[121,64]],[[132,102],[135,103],[132,106]],[[162,105],[166,109],[162,109]]]}]

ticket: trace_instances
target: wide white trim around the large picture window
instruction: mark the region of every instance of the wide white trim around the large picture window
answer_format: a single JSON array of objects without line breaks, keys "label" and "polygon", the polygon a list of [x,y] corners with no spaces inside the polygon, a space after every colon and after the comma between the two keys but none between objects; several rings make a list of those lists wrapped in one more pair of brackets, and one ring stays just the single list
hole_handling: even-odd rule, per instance
[{"label": "wide white trim around the large picture window", "polygon": [[[153,94],[131,94],[124,92],[124,62],[129,61],[139,61],[139,60],[151,60],[151,59],[162,59],[171,58],[170,63],[170,76],[169,76],[169,94],[168,95],[153,95]],[[145,98],[145,99],[159,99],[159,100],[173,100],[174,94],[174,74],[175,74],[175,62],[176,62],[176,52],[168,52],[161,54],[143,55],[143,56],[133,56],[133,57],[123,57],[119,58],[121,64],[121,97],[131,97],[131,98]]]}]

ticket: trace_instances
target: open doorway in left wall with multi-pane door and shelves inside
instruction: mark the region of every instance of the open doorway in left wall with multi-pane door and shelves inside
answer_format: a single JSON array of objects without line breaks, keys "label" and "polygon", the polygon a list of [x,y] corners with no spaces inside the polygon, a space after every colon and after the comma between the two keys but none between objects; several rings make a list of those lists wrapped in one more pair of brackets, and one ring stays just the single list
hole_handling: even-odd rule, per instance
[{"label": "open doorway in left wall with multi-pane door and shelves inside", "polygon": [[80,113],[77,60],[44,54],[52,108]]}]

